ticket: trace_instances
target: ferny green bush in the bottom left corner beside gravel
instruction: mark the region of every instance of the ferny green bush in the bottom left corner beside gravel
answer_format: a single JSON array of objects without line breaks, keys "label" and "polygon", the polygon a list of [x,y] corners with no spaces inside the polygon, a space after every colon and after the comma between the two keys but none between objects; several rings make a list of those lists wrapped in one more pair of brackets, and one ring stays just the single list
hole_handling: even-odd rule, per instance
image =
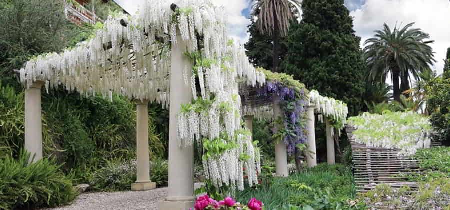
[{"label": "ferny green bush in the bottom left corner beside gravel", "polygon": [[76,191],[55,161],[28,163],[30,154],[0,159],[0,209],[55,207],[71,202]]}]

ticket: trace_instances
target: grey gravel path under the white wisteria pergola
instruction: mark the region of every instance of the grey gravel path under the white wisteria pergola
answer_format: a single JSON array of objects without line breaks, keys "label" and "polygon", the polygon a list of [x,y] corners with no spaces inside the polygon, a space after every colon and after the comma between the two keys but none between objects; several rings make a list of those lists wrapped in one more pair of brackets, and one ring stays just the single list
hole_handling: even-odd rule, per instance
[{"label": "grey gravel path under the white wisteria pergola", "polygon": [[125,192],[97,192],[82,193],[68,206],[56,209],[71,210],[100,210],[100,209],[157,209],[157,202],[167,196],[167,188],[157,188],[148,191],[125,191]]}]

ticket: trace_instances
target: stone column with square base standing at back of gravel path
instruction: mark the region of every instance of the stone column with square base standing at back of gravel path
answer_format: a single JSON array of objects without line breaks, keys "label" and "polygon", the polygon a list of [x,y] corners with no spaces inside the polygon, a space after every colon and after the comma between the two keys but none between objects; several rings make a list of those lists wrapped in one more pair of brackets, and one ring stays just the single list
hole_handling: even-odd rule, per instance
[{"label": "stone column with square base standing at back of gravel path", "polygon": [[136,100],[136,104],[137,179],[131,184],[131,190],[143,191],[156,188],[156,183],[150,181],[148,100]]}]

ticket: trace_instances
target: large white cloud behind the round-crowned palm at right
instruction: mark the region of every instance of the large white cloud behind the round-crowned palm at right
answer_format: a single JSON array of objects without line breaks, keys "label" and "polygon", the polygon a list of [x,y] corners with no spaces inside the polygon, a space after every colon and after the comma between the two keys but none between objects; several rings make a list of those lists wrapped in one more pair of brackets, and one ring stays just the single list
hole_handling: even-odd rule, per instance
[{"label": "large white cloud behind the round-crowned palm at right", "polygon": [[366,0],[360,9],[350,13],[354,17],[354,30],[363,42],[382,29],[383,23],[391,28],[415,22],[413,27],[429,33],[436,63],[433,70],[442,73],[443,59],[450,47],[450,2],[448,0]]}]

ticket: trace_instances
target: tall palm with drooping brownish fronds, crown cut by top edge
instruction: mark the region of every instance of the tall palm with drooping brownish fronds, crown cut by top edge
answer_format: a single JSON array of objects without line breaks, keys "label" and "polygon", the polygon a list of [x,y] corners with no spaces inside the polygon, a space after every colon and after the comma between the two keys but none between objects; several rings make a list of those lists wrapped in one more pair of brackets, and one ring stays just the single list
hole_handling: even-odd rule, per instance
[{"label": "tall palm with drooping brownish fronds, crown cut by top edge", "polygon": [[[300,12],[299,0],[254,0],[253,15],[257,15],[256,27],[262,35],[273,40],[272,71],[278,72],[280,63],[280,38],[287,35],[290,20],[295,17],[293,11]],[[295,8],[295,9],[293,9]]]}]

